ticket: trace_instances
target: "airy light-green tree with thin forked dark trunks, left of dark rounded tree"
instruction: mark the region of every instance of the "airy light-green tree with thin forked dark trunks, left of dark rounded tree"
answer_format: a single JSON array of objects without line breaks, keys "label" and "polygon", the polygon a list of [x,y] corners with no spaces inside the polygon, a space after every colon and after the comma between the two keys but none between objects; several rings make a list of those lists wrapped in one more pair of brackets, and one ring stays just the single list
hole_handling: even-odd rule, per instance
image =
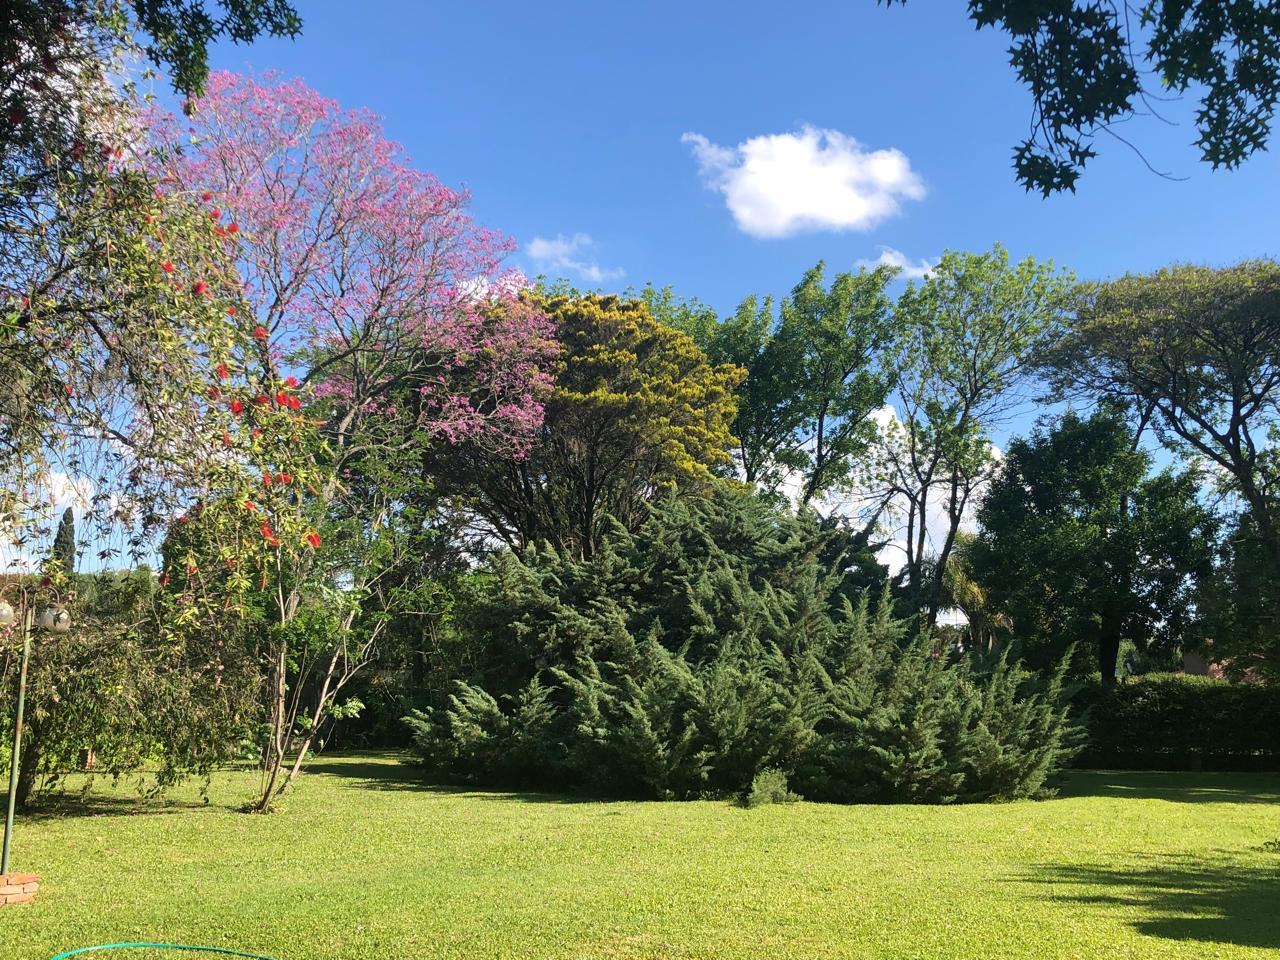
[{"label": "airy light-green tree with thin forked dark trunks, left of dark rounded tree", "polygon": [[1025,399],[1029,361],[1070,293],[1051,262],[1012,264],[997,244],[947,251],[897,301],[896,417],[882,430],[881,483],[905,515],[908,594],[931,625],[960,524],[997,463],[992,429]]}]

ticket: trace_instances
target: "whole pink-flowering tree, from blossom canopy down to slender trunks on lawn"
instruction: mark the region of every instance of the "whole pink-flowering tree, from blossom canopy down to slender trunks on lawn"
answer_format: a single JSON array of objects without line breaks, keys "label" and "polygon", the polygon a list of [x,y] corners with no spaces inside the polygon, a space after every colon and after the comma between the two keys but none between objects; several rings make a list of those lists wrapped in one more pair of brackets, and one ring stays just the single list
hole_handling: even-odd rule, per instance
[{"label": "whole pink-flowering tree, from blossom canopy down to slender trunks on lawn", "polygon": [[[251,453],[244,488],[214,499],[251,520],[219,534],[227,568],[261,571],[250,580],[271,596],[268,810],[374,654],[394,477],[421,444],[522,457],[556,346],[521,278],[500,271],[511,242],[470,219],[465,192],[413,169],[371,114],[300,81],[229,73],[187,114],[156,118],[157,173],[236,246],[252,344],[215,371],[225,444]],[[248,564],[232,556],[246,543]]]}]

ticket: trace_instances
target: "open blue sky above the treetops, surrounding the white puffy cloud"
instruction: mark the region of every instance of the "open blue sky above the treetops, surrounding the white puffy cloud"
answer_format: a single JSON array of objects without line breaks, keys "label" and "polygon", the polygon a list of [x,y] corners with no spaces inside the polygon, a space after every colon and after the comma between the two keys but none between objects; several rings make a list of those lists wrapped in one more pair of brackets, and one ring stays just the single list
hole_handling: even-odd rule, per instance
[{"label": "open blue sky above the treetops, surrounding the white puffy cloud", "polygon": [[[530,273],[652,280],[728,311],[818,260],[847,269],[883,248],[918,264],[1001,241],[1082,276],[1280,253],[1276,156],[1213,173],[1192,104],[1164,109],[1178,125],[1124,128],[1187,180],[1102,142],[1076,195],[1025,193],[1010,151],[1029,99],[1005,36],[974,31],[961,0],[298,5],[297,41],[223,45],[214,67],[274,68],[374,109],[415,163],[472,191]],[[806,127],[840,136],[806,142]],[[806,166],[847,161],[856,178],[887,150],[902,175],[846,184],[854,196]],[[897,209],[859,216],[861,201]]]}]

